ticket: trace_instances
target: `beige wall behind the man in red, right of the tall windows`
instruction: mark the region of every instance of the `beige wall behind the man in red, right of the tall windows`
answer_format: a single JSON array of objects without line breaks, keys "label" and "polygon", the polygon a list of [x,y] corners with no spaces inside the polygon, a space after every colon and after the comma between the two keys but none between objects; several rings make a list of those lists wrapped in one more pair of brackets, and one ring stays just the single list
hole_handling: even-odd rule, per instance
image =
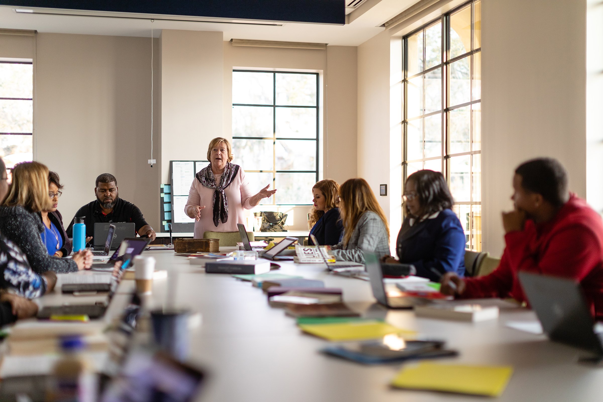
[{"label": "beige wall behind the man in red, right of the tall windows", "polygon": [[482,49],[483,245],[498,256],[520,162],[557,158],[586,196],[586,3],[484,1]]}]

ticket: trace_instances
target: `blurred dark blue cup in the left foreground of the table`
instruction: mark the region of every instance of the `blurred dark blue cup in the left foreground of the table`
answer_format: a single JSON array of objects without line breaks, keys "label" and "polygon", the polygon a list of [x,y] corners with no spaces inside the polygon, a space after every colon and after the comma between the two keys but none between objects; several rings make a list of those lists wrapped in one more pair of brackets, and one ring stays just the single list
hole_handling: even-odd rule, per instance
[{"label": "blurred dark blue cup in the left foreground of the table", "polygon": [[189,350],[188,310],[153,310],[151,324],[155,343],[175,359],[185,360]]}]

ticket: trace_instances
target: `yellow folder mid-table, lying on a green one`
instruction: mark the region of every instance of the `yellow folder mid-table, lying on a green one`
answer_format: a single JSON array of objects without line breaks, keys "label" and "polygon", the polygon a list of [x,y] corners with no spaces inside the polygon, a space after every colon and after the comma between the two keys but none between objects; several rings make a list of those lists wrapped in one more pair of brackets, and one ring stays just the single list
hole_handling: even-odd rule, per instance
[{"label": "yellow folder mid-table, lying on a green one", "polygon": [[413,337],[415,331],[403,330],[383,321],[349,321],[335,324],[301,324],[301,330],[320,336],[328,341],[362,341],[365,339],[382,338],[387,334],[396,333]]}]

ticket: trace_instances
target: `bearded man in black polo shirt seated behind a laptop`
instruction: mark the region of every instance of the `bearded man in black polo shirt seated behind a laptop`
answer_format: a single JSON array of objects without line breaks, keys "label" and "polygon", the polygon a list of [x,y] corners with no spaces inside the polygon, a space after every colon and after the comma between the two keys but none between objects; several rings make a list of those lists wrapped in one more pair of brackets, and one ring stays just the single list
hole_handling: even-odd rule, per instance
[{"label": "bearded man in black polo shirt seated behind a laptop", "polygon": [[84,218],[86,224],[86,242],[90,242],[94,236],[95,223],[108,222],[134,222],[136,233],[155,240],[156,234],[151,225],[145,221],[140,209],[132,203],[119,198],[117,179],[109,173],[103,173],[96,178],[94,188],[96,200],[86,204],[75,213],[74,219],[67,228],[69,237],[73,237],[73,226],[75,218]]}]

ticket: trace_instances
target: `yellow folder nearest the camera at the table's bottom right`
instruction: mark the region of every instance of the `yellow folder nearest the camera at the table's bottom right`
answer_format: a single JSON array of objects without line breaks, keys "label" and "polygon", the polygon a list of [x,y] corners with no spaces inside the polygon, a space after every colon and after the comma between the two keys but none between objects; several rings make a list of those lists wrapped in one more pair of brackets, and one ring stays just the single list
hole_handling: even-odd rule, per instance
[{"label": "yellow folder nearest the camera at the table's bottom right", "polygon": [[472,366],[423,362],[403,368],[391,385],[397,388],[458,392],[497,397],[502,394],[511,366]]}]

